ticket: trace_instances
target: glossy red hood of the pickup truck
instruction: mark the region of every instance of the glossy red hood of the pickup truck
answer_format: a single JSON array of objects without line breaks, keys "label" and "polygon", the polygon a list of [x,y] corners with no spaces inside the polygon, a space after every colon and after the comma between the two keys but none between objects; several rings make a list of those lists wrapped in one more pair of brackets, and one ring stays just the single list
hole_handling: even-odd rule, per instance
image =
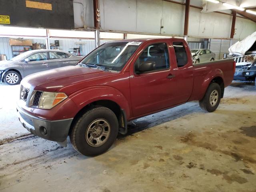
[{"label": "glossy red hood of the pickup truck", "polygon": [[44,72],[35,73],[25,77],[21,84],[26,87],[32,87],[35,90],[56,92],[57,90],[65,90],[70,87],[66,94],[70,94],[78,84],[84,84],[84,87],[89,84],[86,82],[106,76],[112,76],[115,73],[106,72],[94,68],[86,68],[79,66],[67,66],[47,70]]}]

